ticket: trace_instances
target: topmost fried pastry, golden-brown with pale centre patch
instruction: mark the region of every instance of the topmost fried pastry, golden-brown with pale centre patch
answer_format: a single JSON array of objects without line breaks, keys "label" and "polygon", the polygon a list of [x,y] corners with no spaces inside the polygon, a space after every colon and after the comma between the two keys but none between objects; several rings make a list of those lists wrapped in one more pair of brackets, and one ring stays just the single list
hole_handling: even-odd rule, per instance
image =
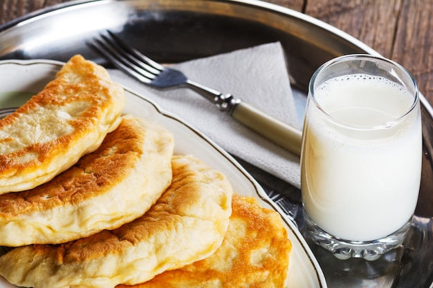
[{"label": "topmost fried pastry, golden-brown with pale centre patch", "polygon": [[0,194],[47,182],[94,151],[120,123],[123,88],[72,57],[44,90],[0,120]]}]

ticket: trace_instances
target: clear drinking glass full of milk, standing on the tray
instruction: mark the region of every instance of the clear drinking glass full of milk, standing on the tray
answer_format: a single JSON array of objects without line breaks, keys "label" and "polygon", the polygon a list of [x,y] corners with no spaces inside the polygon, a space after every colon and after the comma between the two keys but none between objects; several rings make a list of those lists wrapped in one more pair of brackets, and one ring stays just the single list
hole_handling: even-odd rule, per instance
[{"label": "clear drinking glass full of milk, standing on the tray", "polygon": [[416,82],[380,57],[347,55],[311,78],[302,138],[308,235],[340,259],[399,247],[421,181]]}]

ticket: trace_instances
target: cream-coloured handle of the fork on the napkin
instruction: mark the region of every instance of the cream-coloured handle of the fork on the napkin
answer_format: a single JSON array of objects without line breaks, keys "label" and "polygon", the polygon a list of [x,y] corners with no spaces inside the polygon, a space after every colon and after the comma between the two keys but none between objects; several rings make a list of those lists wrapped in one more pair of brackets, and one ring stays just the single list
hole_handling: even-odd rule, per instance
[{"label": "cream-coloured handle of the fork on the napkin", "polygon": [[301,155],[302,132],[279,119],[260,111],[245,102],[238,102],[231,111],[232,117],[268,140],[295,155]]}]

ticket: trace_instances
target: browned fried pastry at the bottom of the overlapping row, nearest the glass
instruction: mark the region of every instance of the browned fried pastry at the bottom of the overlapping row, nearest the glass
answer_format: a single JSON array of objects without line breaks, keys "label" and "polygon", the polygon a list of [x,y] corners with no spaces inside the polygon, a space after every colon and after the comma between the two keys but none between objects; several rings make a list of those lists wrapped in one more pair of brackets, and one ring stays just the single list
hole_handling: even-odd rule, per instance
[{"label": "browned fried pastry at the bottom of the overlapping row, nearest the glass", "polygon": [[282,288],[291,247],[277,212],[234,193],[228,231],[214,254],[142,284],[116,288]]}]

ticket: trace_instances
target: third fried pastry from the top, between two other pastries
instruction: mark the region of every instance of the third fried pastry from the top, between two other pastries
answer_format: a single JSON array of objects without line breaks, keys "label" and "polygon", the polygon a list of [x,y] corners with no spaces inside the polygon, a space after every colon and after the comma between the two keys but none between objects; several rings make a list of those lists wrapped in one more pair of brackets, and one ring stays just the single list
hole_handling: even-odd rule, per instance
[{"label": "third fried pastry from the top, between two other pastries", "polygon": [[172,184],[142,217],[66,244],[12,249],[0,274],[21,287],[109,288],[207,258],[227,231],[232,188],[194,157],[174,156],[172,170]]}]

